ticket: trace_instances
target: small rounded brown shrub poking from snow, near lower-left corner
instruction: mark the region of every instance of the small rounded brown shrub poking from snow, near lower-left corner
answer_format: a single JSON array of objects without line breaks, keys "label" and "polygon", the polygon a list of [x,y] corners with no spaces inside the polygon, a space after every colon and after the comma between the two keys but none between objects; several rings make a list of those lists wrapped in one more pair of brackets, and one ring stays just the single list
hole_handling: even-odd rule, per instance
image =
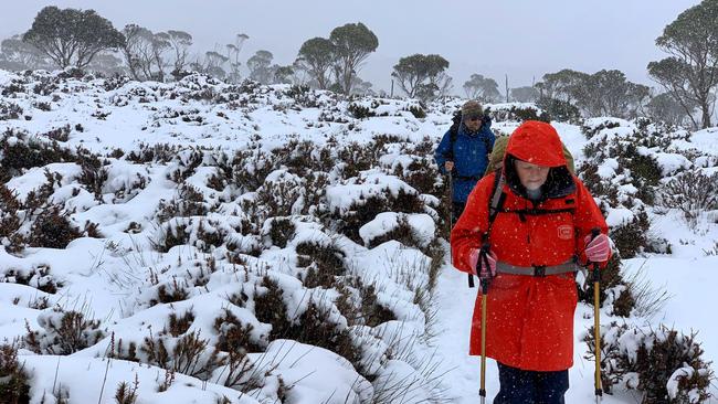
[{"label": "small rounded brown shrub poking from snow, near lower-left corner", "polygon": [[27,326],[25,345],[40,354],[68,355],[92,347],[105,337],[99,320],[86,319],[78,311],[65,311],[60,307],[45,310],[38,316],[42,330]]}]

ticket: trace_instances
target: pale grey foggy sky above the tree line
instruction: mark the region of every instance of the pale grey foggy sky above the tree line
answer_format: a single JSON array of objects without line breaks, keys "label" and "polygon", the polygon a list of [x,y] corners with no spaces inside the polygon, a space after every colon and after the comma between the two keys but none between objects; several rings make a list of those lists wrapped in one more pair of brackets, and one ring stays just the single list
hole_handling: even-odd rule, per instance
[{"label": "pale grey foggy sky above the tree line", "polygon": [[[27,31],[44,6],[94,9],[122,29],[138,23],[155,32],[183,30],[199,55],[224,47],[235,34],[250,36],[245,61],[257,50],[291,64],[304,41],[328,38],[335,26],[363,22],[379,47],[359,76],[389,89],[399,57],[437,53],[451,63],[454,93],[472,73],[493,77],[504,92],[531,85],[545,73],[617,68],[656,86],[646,73],[665,57],[655,46],[666,24],[699,0],[17,0],[3,1],[0,38]],[[398,89],[397,89],[398,92]]]}]

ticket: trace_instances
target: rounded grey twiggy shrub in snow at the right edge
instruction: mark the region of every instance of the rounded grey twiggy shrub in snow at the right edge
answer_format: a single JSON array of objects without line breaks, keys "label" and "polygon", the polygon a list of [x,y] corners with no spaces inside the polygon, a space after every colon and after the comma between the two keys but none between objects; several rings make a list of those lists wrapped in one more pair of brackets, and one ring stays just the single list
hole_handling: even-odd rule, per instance
[{"label": "rounded grey twiggy shrub in snow at the right edge", "polygon": [[718,173],[685,171],[661,187],[659,201],[665,208],[680,210],[695,226],[701,213],[718,209]]}]

